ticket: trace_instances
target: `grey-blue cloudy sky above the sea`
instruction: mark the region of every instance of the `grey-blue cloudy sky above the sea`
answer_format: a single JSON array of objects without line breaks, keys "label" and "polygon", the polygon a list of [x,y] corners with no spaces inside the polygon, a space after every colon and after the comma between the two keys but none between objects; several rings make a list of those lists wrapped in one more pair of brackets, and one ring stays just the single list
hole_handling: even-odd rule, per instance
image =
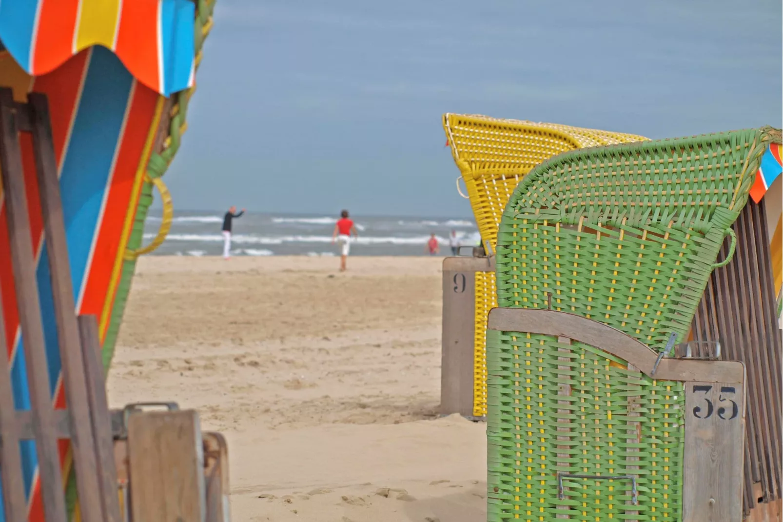
[{"label": "grey-blue cloudy sky above the sea", "polygon": [[175,208],[471,216],[446,112],[780,128],[780,0],[218,0]]}]

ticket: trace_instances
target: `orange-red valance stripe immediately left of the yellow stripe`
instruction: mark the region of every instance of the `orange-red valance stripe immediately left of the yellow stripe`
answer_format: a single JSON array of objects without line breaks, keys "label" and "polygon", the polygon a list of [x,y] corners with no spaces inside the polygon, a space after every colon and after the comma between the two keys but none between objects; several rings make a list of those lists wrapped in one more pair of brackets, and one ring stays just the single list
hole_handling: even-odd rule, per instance
[{"label": "orange-red valance stripe immediately left of the yellow stripe", "polygon": [[32,74],[53,71],[73,53],[78,0],[40,0]]}]

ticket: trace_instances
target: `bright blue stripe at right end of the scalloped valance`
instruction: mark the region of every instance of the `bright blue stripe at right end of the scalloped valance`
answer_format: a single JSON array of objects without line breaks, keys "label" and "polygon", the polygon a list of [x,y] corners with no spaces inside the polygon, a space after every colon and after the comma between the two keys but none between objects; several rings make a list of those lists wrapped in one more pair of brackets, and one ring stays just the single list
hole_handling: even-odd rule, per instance
[{"label": "bright blue stripe at right end of the scalloped valance", "polygon": [[161,42],[163,43],[164,96],[187,89],[195,59],[193,20],[196,5],[191,0],[161,2]]}]

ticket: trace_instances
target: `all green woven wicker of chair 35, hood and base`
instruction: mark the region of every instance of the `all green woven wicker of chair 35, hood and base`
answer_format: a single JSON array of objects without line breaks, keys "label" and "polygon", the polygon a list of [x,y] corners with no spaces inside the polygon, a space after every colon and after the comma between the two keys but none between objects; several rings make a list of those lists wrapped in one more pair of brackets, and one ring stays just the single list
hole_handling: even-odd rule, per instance
[{"label": "all green woven wicker of chair 35, hood and base", "polygon": [[[593,147],[545,161],[519,183],[500,222],[499,305],[589,317],[655,350],[672,332],[683,340],[709,274],[727,263],[716,256],[770,141],[780,143],[780,131]],[[680,520],[682,383],[525,332],[489,332],[487,365],[491,522]],[[630,505],[625,480],[566,480],[568,495],[558,499],[557,472],[634,475],[639,505]]]}]

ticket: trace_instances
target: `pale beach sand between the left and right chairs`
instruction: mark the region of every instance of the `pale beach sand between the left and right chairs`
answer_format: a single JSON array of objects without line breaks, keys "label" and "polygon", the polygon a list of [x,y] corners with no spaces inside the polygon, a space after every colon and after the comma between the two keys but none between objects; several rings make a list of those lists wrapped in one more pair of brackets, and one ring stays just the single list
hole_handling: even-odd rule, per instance
[{"label": "pale beach sand between the left and right chairs", "polygon": [[146,257],[113,407],[177,401],[229,443],[236,522],[478,522],[485,426],[438,418],[441,259]]}]

